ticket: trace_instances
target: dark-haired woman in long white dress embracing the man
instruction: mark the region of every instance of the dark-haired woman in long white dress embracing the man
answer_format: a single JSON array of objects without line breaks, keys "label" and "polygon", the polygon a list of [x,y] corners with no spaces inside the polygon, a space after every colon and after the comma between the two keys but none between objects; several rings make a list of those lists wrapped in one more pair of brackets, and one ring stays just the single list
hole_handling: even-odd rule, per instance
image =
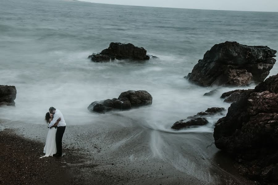
[{"label": "dark-haired woman in long white dress embracing the man", "polygon": [[[53,119],[53,114],[51,113],[46,113],[45,114],[45,121],[49,123],[52,121]],[[57,122],[48,130],[48,134],[46,137],[46,142],[45,142],[45,146],[44,146],[44,156],[40,157],[48,157],[48,156],[53,156],[53,154],[56,154],[57,152],[57,148],[56,148],[56,132],[57,132],[57,125],[59,123],[59,121],[61,120],[61,118],[59,118],[57,120]]]}]

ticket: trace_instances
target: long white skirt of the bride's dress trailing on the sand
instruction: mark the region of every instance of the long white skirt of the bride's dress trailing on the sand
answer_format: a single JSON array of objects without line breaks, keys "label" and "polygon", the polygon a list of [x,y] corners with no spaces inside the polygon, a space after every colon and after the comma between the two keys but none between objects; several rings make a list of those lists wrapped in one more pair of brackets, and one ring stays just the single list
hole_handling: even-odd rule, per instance
[{"label": "long white skirt of the bride's dress trailing on the sand", "polygon": [[48,134],[46,137],[46,142],[44,146],[44,156],[40,157],[49,157],[53,156],[53,154],[56,154],[57,148],[56,148],[56,132],[57,129],[55,127],[48,130]]}]

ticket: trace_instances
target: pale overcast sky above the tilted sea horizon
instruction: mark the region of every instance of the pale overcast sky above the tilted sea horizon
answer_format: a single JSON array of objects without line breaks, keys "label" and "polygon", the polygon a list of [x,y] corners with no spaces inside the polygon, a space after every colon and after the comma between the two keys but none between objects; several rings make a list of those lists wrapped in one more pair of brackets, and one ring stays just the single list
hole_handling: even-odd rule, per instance
[{"label": "pale overcast sky above the tilted sea horizon", "polygon": [[81,0],[97,3],[208,10],[275,11],[278,0]]}]

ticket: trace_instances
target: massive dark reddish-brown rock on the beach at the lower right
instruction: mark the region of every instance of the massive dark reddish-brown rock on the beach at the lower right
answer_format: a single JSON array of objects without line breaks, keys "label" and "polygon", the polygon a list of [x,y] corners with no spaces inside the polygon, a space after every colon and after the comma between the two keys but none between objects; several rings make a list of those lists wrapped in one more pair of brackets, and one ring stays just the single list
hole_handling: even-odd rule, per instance
[{"label": "massive dark reddish-brown rock on the beach at the lower right", "polygon": [[242,93],[215,124],[215,146],[245,162],[248,174],[278,180],[278,74]]}]

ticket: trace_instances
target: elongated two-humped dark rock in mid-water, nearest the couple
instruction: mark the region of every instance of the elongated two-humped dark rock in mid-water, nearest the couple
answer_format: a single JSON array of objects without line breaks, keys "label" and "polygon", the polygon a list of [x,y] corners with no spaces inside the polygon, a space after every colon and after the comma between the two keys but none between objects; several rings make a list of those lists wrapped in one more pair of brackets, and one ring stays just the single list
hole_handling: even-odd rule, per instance
[{"label": "elongated two-humped dark rock in mid-water, nearest the couple", "polygon": [[88,106],[90,112],[105,113],[113,109],[131,109],[143,105],[151,105],[153,97],[147,91],[126,91],[122,92],[118,98],[103,101],[94,101]]}]

